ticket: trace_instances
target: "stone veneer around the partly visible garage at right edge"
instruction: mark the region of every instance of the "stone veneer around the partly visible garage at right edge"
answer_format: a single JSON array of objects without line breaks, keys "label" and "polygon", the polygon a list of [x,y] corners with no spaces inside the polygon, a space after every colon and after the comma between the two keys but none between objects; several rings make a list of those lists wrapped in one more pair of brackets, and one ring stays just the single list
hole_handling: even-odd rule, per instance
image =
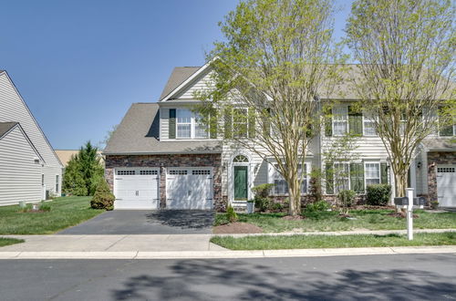
[{"label": "stone veneer around the partly visible garage at right edge", "polygon": [[456,151],[428,152],[428,201],[437,200],[437,165],[456,164]]}]

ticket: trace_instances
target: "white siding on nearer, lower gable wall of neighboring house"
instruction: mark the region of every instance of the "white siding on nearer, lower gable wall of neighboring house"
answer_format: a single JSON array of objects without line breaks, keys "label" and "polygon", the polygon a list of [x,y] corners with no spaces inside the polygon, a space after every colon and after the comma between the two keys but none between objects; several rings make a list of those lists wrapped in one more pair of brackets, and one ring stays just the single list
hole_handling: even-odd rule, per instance
[{"label": "white siding on nearer, lower gable wall of neighboring house", "polygon": [[36,157],[19,127],[0,139],[0,205],[42,199],[41,164]]}]

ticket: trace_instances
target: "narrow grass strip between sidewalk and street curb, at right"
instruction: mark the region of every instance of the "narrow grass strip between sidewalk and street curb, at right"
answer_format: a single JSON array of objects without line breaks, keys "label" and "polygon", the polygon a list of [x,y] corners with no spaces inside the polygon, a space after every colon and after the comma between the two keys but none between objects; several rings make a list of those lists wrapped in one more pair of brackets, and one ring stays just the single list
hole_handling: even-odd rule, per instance
[{"label": "narrow grass strip between sidewalk and street curb, at right", "polygon": [[281,250],[314,248],[355,248],[376,246],[456,245],[456,233],[407,235],[292,235],[292,236],[214,236],[211,243],[231,250]]}]

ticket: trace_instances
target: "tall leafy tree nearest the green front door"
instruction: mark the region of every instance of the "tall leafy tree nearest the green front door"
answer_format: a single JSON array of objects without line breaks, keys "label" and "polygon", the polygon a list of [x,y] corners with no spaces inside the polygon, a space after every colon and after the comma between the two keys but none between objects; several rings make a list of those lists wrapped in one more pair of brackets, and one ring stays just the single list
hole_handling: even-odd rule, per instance
[{"label": "tall leafy tree nearest the green front door", "polygon": [[[329,0],[247,0],[220,23],[208,56],[212,80],[197,110],[228,144],[275,164],[288,183],[289,214],[301,212],[301,166],[319,127],[319,97],[335,78]],[[222,122],[220,122],[222,120]]]}]

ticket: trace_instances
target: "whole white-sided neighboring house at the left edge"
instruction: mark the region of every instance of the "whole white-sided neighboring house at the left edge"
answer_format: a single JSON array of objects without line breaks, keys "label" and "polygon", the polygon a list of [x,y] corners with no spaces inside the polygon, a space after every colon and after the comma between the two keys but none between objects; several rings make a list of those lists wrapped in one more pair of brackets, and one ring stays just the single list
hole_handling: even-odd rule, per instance
[{"label": "whole white-sided neighboring house at the left edge", "polygon": [[62,167],[13,81],[0,70],[0,205],[60,194]]}]

